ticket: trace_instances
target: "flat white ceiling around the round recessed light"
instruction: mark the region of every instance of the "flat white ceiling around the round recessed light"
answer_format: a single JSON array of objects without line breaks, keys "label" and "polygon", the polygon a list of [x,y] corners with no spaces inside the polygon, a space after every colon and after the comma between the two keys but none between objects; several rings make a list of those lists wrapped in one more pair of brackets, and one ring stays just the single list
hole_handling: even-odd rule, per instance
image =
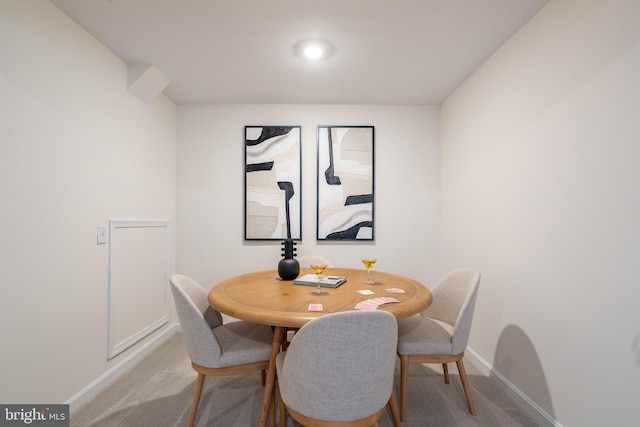
[{"label": "flat white ceiling around the round recessed light", "polygon": [[[440,104],[548,0],[51,0],[177,104]],[[322,62],[303,38],[335,45]]]}]

